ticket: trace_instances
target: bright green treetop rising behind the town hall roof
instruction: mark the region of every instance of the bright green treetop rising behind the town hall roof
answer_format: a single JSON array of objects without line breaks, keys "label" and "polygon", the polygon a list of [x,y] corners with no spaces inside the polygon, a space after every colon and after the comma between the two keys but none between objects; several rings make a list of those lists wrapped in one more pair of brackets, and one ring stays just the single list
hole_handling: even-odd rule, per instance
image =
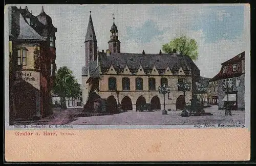
[{"label": "bright green treetop rising behind the town hall roof", "polygon": [[165,53],[172,53],[173,49],[176,49],[179,54],[189,56],[192,60],[197,60],[198,58],[198,45],[195,39],[182,36],[162,46],[162,50]]}]

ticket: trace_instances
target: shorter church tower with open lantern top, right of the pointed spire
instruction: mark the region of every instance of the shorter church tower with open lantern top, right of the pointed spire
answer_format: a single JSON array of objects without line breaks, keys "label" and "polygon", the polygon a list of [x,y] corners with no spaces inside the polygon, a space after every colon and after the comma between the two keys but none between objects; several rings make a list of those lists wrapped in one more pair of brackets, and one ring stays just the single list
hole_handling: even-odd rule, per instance
[{"label": "shorter church tower with open lantern top, right of the pointed spire", "polygon": [[118,40],[118,30],[115,24],[115,17],[113,18],[113,25],[111,26],[111,36],[109,43],[109,50],[113,53],[120,53],[120,41]]}]

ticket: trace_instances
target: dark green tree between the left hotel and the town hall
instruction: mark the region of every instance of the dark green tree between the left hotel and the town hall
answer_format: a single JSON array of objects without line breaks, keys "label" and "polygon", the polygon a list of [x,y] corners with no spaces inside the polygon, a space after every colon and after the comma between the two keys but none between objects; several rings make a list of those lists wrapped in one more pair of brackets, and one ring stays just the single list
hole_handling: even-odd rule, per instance
[{"label": "dark green tree between the left hotel and the town hall", "polygon": [[66,97],[73,98],[80,92],[80,85],[67,66],[59,68],[54,82],[53,93],[60,97],[61,108],[66,108]]}]

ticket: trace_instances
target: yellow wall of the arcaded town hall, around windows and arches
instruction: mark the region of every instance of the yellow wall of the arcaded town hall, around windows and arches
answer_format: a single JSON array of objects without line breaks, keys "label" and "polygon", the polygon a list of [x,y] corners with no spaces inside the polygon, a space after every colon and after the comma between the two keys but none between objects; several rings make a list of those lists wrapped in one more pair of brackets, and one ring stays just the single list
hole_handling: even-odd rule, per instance
[{"label": "yellow wall of the arcaded town hall, around windows and arches", "polygon": [[[109,77],[115,77],[116,83],[117,83],[117,91],[119,94],[117,95],[116,92],[109,91]],[[130,91],[122,91],[122,78],[128,77],[130,78]],[[143,79],[143,91],[136,91],[135,86],[135,79],[137,77],[141,77]],[[148,91],[148,78],[155,78],[156,79],[156,91]],[[132,100],[133,104],[133,110],[136,109],[136,101],[140,96],[143,96],[146,99],[147,103],[151,102],[151,99],[154,96],[158,96],[160,103],[161,103],[161,109],[163,109],[163,94],[159,94],[158,87],[160,86],[160,80],[161,78],[167,78],[168,80],[168,86],[170,86],[170,94],[168,99],[168,94],[165,95],[165,108],[166,109],[176,109],[176,100],[180,95],[184,95],[184,92],[178,91],[177,83],[178,78],[185,78],[188,82],[191,82],[191,77],[189,76],[139,76],[139,75],[101,75],[101,80],[99,82],[99,95],[101,98],[108,98],[109,96],[114,96],[116,101],[120,102],[125,96],[129,96]],[[185,92],[185,102],[186,104],[191,104],[190,99],[192,99],[192,92],[188,91]]]}]

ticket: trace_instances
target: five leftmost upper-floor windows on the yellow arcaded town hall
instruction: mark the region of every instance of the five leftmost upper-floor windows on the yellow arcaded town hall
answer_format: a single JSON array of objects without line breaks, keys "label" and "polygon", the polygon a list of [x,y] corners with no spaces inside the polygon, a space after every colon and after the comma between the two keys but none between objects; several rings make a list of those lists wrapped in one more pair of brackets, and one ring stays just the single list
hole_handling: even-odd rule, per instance
[{"label": "five leftmost upper-floor windows on the yellow arcaded town hall", "polygon": [[[162,85],[168,85],[167,78],[161,78],[160,84]],[[116,90],[116,78],[110,77],[109,78],[109,90],[115,91]],[[155,78],[149,78],[148,79],[148,88],[150,91],[156,90],[156,79]],[[122,89],[124,91],[130,91],[130,78],[124,77],[122,78]],[[136,90],[143,90],[143,79],[142,78],[136,78],[135,79],[135,89]]]}]

